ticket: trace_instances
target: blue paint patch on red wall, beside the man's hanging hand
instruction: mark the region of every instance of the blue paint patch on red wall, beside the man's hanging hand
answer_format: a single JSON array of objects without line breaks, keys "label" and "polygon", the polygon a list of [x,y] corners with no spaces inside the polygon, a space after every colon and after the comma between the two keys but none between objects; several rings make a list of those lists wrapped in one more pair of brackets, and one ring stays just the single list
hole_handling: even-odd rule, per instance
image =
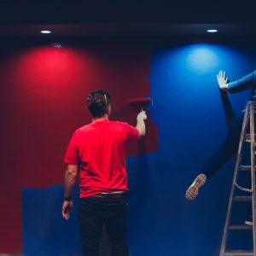
[{"label": "blue paint patch on red wall, beside the man's hanging hand", "polygon": [[77,256],[81,254],[79,223],[76,216],[79,189],[75,189],[74,211],[62,218],[63,186],[23,189],[23,253],[26,256]]}]

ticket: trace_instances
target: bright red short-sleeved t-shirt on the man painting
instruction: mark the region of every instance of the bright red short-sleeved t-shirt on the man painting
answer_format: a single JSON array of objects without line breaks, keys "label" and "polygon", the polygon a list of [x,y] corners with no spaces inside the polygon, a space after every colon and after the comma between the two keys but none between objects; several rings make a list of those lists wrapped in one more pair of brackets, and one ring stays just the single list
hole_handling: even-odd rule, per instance
[{"label": "bright red short-sleeved t-shirt on the man painting", "polygon": [[73,133],[64,162],[79,165],[80,197],[128,190],[126,150],[137,139],[136,127],[119,121],[96,121]]}]

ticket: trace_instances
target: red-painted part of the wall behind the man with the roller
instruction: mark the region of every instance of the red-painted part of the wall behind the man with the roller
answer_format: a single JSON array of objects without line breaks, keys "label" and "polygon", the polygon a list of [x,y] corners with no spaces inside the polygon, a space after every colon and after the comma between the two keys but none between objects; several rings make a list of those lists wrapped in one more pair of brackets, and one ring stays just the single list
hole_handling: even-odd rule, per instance
[{"label": "red-painted part of the wall behind the man with the roller", "polygon": [[[112,119],[135,125],[140,108],[127,101],[150,94],[149,62],[150,47],[137,41],[2,43],[0,252],[22,251],[21,189],[63,182],[67,143],[76,128],[90,122],[88,93],[108,90]],[[148,136],[129,146],[130,155],[158,148],[149,113],[147,123]]]}]

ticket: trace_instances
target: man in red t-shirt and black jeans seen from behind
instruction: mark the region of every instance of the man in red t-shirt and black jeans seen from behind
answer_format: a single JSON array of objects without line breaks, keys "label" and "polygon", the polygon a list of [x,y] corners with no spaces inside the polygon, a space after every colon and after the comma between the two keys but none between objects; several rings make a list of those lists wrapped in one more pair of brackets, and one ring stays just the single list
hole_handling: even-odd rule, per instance
[{"label": "man in red t-shirt and black jeans seen from behind", "polygon": [[113,256],[128,256],[125,240],[126,222],[126,151],[129,140],[145,135],[147,119],[144,111],[137,115],[136,127],[109,121],[111,113],[108,91],[89,94],[87,106],[92,122],[73,133],[67,147],[65,193],[62,216],[69,218],[73,210],[72,191],[79,176],[79,224],[83,256],[97,256],[106,225]]}]

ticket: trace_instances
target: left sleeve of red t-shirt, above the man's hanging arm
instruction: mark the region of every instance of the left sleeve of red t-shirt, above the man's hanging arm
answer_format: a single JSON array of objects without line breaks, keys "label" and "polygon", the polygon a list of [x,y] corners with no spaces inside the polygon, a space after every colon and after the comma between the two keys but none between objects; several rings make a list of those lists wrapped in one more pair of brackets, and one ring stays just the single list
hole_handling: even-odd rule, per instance
[{"label": "left sleeve of red t-shirt, above the man's hanging arm", "polygon": [[73,133],[73,137],[71,138],[67,146],[67,151],[64,158],[64,163],[67,165],[79,165],[79,154],[77,150],[78,136],[79,136],[79,132],[75,131]]}]

